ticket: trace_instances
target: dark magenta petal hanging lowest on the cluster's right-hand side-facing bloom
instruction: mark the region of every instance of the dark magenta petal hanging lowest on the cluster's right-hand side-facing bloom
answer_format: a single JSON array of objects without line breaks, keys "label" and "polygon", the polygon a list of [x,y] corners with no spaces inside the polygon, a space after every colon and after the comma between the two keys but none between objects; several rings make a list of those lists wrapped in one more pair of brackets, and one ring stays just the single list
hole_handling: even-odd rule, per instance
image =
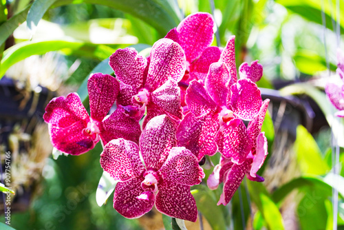
[{"label": "dark magenta petal hanging lowest on the cluster's right-hand side-facing bloom", "polygon": [[232,199],[235,191],[237,191],[239,185],[244,179],[249,166],[250,163],[245,161],[241,165],[233,164],[233,166],[228,170],[224,180],[224,191],[221,194],[217,205],[227,205],[228,202],[230,202],[230,199]]}]

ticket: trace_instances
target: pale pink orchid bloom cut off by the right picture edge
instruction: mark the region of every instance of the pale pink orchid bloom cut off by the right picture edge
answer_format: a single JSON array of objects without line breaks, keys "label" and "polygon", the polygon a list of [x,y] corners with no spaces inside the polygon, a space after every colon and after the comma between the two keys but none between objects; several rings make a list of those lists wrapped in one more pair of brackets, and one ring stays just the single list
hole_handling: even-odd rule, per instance
[{"label": "pale pink orchid bloom cut off by the right picture edge", "polygon": [[[344,81],[344,54],[341,50],[337,51],[337,61],[338,67],[336,72]],[[339,110],[335,115],[344,117],[344,83],[342,82],[340,85],[335,83],[327,83],[327,85],[325,85],[325,92],[332,105]]]}]

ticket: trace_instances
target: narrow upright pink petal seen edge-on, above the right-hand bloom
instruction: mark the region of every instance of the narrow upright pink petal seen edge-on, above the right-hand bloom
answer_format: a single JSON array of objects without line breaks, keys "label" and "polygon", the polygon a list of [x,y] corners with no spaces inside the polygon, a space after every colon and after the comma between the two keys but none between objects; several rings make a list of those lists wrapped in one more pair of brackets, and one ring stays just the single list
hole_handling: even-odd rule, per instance
[{"label": "narrow upright pink petal seen edge-on, above the right-hand bloom", "polygon": [[237,66],[235,65],[235,36],[230,36],[226,47],[222,51],[219,61],[223,61],[228,66],[230,72],[230,85],[237,82]]}]

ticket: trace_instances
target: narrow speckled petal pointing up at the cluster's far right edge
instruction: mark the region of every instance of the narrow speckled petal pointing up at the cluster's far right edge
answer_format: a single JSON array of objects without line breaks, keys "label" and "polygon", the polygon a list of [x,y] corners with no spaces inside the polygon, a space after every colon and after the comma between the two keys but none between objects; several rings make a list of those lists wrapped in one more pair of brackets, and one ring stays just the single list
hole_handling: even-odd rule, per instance
[{"label": "narrow speckled petal pointing up at the cluster's far right edge", "polygon": [[257,136],[261,133],[261,126],[263,125],[266,111],[268,111],[269,102],[270,102],[270,99],[264,100],[263,105],[261,105],[261,108],[258,114],[256,114],[253,117],[250,123],[248,123],[247,132],[248,132],[248,136],[250,136],[250,141],[252,143],[253,150],[256,149]]}]

